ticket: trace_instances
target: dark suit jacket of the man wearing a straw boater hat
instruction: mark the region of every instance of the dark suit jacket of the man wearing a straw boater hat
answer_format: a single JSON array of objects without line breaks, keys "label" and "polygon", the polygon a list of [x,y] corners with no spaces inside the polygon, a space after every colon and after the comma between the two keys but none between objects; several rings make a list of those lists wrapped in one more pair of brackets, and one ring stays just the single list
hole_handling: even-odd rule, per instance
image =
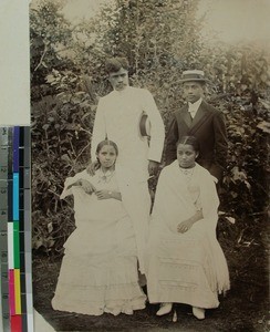
[{"label": "dark suit jacket of the man wearing a straw boater hat", "polygon": [[195,136],[199,142],[200,153],[197,163],[221,179],[228,152],[224,114],[205,101],[201,102],[194,120],[187,104],[175,112],[168,127],[165,147],[167,165],[176,159],[176,143],[186,135]]}]

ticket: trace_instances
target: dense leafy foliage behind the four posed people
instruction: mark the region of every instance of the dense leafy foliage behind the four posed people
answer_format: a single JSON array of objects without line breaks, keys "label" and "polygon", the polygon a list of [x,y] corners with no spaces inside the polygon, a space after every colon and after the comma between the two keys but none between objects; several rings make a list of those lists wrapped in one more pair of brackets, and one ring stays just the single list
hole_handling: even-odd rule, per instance
[{"label": "dense leafy foliage behind the four posed people", "polygon": [[116,0],[76,25],[63,6],[48,0],[30,8],[33,248],[62,252],[74,229],[72,200],[60,194],[64,179],[89,163],[98,97],[110,91],[104,61],[122,54],[131,84],[153,93],[166,127],[184,102],[183,70],[206,72],[206,97],[225,113],[229,136],[219,237],[229,246],[256,242],[268,204],[267,48],[202,39],[198,0]]}]

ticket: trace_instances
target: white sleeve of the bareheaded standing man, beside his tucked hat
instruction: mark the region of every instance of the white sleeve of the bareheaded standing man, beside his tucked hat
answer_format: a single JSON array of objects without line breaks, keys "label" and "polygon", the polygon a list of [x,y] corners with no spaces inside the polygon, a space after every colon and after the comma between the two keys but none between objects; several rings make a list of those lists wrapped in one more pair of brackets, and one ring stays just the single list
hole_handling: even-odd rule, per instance
[{"label": "white sleeve of the bareheaded standing man, beside his tucked hat", "polygon": [[164,123],[153,95],[147,90],[144,90],[144,92],[145,96],[143,110],[148,115],[150,122],[148,160],[155,160],[159,163],[162,160],[165,139]]}]

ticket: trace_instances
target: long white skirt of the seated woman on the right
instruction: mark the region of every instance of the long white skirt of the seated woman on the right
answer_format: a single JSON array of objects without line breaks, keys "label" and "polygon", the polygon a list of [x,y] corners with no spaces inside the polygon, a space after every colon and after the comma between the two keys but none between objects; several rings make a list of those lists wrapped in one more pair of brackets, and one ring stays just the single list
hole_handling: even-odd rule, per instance
[{"label": "long white skirt of the seated woman on the right", "polygon": [[217,308],[218,292],[229,288],[228,267],[218,241],[206,232],[204,220],[186,234],[168,231],[160,225],[152,227],[150,234],[149,302]]}]

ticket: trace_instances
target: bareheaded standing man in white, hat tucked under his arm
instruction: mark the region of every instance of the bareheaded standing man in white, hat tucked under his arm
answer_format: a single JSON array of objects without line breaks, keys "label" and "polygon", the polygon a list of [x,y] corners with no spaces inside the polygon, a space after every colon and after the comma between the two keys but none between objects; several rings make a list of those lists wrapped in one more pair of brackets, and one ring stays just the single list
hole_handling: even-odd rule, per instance
[{"label": "bareheaded standing man in white, hat tucked under his arm", "polygon": [[[149,175],[156,173],[162,160],[164,123],[152,94],[145,89],[129,86],[128,62],[125,58],[110,59],[106,71],[113,91],[101,97],[97,105],[91,144],[92,165],[97,144],[105,137],[114,141],[120,149],[117,165],[133,173],[133,178],[142,193],[143,206],[137,208],[145,208],[149,214],[147,179]],[[142,136],[139,132],[143,113],[148,116],[150,123],[149,144],[148,138]]]}]

